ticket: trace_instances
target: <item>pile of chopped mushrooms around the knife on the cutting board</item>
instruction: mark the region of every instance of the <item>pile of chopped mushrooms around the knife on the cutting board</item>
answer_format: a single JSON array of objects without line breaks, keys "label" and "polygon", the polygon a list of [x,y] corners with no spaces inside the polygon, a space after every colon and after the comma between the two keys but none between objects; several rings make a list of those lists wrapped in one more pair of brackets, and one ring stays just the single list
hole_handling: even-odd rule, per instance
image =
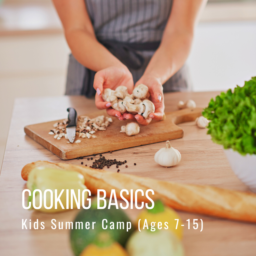
[{"label": "pile of chopped mushrooms around the knife on the cutting board", "polygon": [[[97,138],[94,134],[97,131],[106,131],[109,124],[113,122],[111,117],[108,116],[97,116],[95,118],[90,118],[89,116],[78,116],[76,124],[76,135],[79,138]],[[54,139],[60,140],[62,137],[68,139],[66,133],[66,125],[68,124],[68,119],[62,122],[53,124],[54,129],[52,129],[49,134],[54,135]],[[67,141],[68,143],[69,141]],[[76,140],[76,143],[81,142],[81,140]]]}]

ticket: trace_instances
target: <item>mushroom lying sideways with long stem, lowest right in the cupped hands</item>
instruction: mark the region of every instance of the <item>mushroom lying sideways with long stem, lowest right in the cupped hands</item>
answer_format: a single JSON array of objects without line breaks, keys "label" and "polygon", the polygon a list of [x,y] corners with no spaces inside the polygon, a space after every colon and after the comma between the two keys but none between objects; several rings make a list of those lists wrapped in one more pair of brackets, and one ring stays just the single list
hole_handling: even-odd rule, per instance
[{"label": "mushroom lying sideways with long stem, lowest right in the cupped hands", "polygon": [[148,119],[150,113],[155,112],[155,106],[150,100],[143,100],[138,105],[127,102],[126,109],[130,113],[138,113],[139,115],[142,115],[145,119]]}]

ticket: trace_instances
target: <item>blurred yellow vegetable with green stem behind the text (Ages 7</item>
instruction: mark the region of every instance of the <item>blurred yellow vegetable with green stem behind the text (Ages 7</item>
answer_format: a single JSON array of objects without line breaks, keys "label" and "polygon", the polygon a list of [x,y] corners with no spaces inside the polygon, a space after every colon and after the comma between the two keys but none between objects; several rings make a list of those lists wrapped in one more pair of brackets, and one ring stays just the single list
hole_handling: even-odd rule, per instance
[{"label": "blurred yellow vegetable with green stem behind the text (Ages 7", "polygon": [[[137,218],[137,223],[140,220],[140,230],[142,230],[144,226],[145,219],[147,219],[148,226],[150,226],[151,222],[156,222],[156,226],[155,226],[156,229],[157,229],[158,222],[162,222],[162,229],[164,229],[164,222],[168,222],[167,231],[173,232],[179,239],[182,239],[183,229],[181,227],[182,220],[180,216],[178,215],[177,212],[172,210],[170,207],[164,206],[164,204],[160,200],[157,200],[155,202],[153,209],[143,210],[139,214]],[[177,220],[175,219],[179,219],[177,229],[176,229]]]}]

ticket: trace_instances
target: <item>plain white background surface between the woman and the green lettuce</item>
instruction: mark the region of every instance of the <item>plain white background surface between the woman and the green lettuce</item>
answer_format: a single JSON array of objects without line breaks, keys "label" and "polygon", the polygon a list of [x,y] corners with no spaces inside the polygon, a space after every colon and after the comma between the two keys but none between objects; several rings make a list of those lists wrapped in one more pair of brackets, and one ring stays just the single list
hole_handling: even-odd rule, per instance
[{"label": "plain white background surface between the woman and the green lettuce", "polygon": [[256,21],[200,23],[188,64],[194,91],[243,86],[256,76]]}]

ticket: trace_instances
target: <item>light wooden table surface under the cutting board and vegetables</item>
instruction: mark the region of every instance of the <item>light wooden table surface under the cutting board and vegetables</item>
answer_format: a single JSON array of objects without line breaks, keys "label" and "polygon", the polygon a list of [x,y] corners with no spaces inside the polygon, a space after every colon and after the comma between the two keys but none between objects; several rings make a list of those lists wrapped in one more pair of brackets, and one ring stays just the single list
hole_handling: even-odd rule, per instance
[{"label": "light wooden table surface under the cutting board and vegetables", "polygon": [[[165,94],[165,111],[177,110],[179,100],[193,99],[197,107],[206,107],[218,92],[175,92]],[[7,140],[4,161],[0,175],[0,255],[62,255],[71,256],[68,230],[53,230],[51,220],[72,221],[77,210],[43,214],[22,208],[22,190],[26,182],[20,172],[25,164],[37,160],[61,162],[52,154],[25,135],[23,128],[36,124],[66,118],[68,107],[74,107],[78,115],[97,111],[93,100],[83,96],[63,96],[55,98],[22,98],[14,104],[12,121]],[[120,121],[120,126],[122,121]],[[171,145],[181,153],[181,162],[172,168],[164,168],[154,162],[157,150],[165,142],[114,151],[113,158],[126,159],[129,168],[120,168],[120,172],[192,184],[208,184],[221,188],[248,190],[232,172],[220,145],[211,141],[206,129],[199,129],[194,122],[180,124],[184,129],[182,139],[172,140]],[[104,154],[109,156],[109,153]],[[87,161],[84,160],[84,162]],[[71,164],[80,164],[81,160],[66,160]],[[91,160],[88,163],[91,164]],[[137,165],[134,166],[133,163]],[[114,168],[109,170],[116,171]],[[128,210],[132,219],[139,210]],[[179,212],[184,226],[183,244],[187,256],[246,256],[256,255],[256,225],[229,220],[220,220]],[[22,229],[22,219],[32,222],[44,221],[45,229]],[[203,231],[188,229],[187,221],[202,219]]]}]

